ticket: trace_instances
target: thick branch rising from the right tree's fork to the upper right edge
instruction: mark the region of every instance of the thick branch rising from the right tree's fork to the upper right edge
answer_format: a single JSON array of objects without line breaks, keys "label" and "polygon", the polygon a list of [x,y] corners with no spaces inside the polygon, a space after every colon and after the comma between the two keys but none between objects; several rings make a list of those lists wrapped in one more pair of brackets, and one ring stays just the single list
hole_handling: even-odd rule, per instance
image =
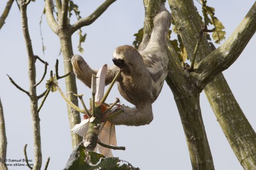
[{"label": "thick branch rising from the right tree's fork to the upper right edge", "polygon": [[256,2],[227,41],[214,50],[191,72],[197,86],[203,90],[216,75],[228,69],[243,52],[256,31]]}]

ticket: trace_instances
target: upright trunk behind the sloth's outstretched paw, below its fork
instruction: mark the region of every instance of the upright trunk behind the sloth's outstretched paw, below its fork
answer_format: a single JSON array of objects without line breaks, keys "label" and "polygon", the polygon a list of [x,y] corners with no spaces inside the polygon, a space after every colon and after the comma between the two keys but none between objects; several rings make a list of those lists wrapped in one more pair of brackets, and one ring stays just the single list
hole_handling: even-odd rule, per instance
[{"label": "upright trunk behind the sloth's outstretched paw, below its fork", "polygon": [[[73,48],[71,41],[71,34],[69,29],[61,29],[58,32],[59,40],[61,41],[62,55],[64,60],[64,68],[65,74],[71,72],[71,74],[65,77],[66,81],[66,94],[67,98],[72,101],[73,104],[78,106],[78,98],[73,94],[77,94],[77,84],[76,84],[76,76],[73,73],[72,65],[71,65],[71,57],[73,56]],[[67,105],[68,108],[68,120],[70,129],[74,127],[74,125],[79,124],[81,122],[80,114],[78,111],[71,108]],[[78,134],[71,132],[72,139],[72,147],[75,148],[81,141],[82,137]]]}]

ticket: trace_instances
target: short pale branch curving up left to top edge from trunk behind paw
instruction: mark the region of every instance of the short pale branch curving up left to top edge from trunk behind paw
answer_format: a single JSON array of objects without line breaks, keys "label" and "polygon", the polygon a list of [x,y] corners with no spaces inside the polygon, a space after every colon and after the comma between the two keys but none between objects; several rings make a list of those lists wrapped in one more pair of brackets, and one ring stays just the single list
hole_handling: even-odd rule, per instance
[{"label": "short pale branch curving up left to top edge from trunk behind paw", "polygon": [[46,8],[46,19],[47,22],[50,26],[50,28],[52,29],[52,31],[54,33],[58,33],[58,24],[54,19],[54,15],[53,15],[53,2],[52,0],[46,0],[45,2],[45,8]]}]

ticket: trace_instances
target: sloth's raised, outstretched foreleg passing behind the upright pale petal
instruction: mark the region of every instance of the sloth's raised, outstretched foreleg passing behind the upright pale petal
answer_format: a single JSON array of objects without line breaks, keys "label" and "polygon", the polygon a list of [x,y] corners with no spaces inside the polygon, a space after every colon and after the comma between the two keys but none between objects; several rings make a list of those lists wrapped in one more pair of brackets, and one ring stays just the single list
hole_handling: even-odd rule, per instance
[{"label": "sloth's raised, outstretched foreleg passing behind the upright pale petal", "polygon": [[[74,74],[76,74],[77,78],[85,83],[86,86],[91,88],[92,75],[96,75],[98,71],[91,69],[91,67],[89,67],[89,65],[80,55],[74,55],[71,59],[71,63],[73,66],[73,72]],[[120,69],[115,65],[108,67],[108,72],[106,75],[106,85],[113,80],[119,70]]]}]

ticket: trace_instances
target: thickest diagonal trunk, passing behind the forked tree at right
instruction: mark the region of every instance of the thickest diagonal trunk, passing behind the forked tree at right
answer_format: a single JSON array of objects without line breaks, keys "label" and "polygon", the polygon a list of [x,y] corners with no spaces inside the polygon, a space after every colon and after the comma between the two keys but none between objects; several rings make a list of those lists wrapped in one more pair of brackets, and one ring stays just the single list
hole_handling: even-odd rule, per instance
[{"label": "thickest diagonal trunk, passing behind the forked tree at right", "polygon": [[[193,1],[169,0],[169,4],[179,35],[191,60],[201,27]],[[211,52],[212,49],[206,38],[203,37],[196,62],[199,63]],[[256,134],[240,109],[222,73],[209,82],[204,91],[237,159],[245,169],[255,169]]]}]

